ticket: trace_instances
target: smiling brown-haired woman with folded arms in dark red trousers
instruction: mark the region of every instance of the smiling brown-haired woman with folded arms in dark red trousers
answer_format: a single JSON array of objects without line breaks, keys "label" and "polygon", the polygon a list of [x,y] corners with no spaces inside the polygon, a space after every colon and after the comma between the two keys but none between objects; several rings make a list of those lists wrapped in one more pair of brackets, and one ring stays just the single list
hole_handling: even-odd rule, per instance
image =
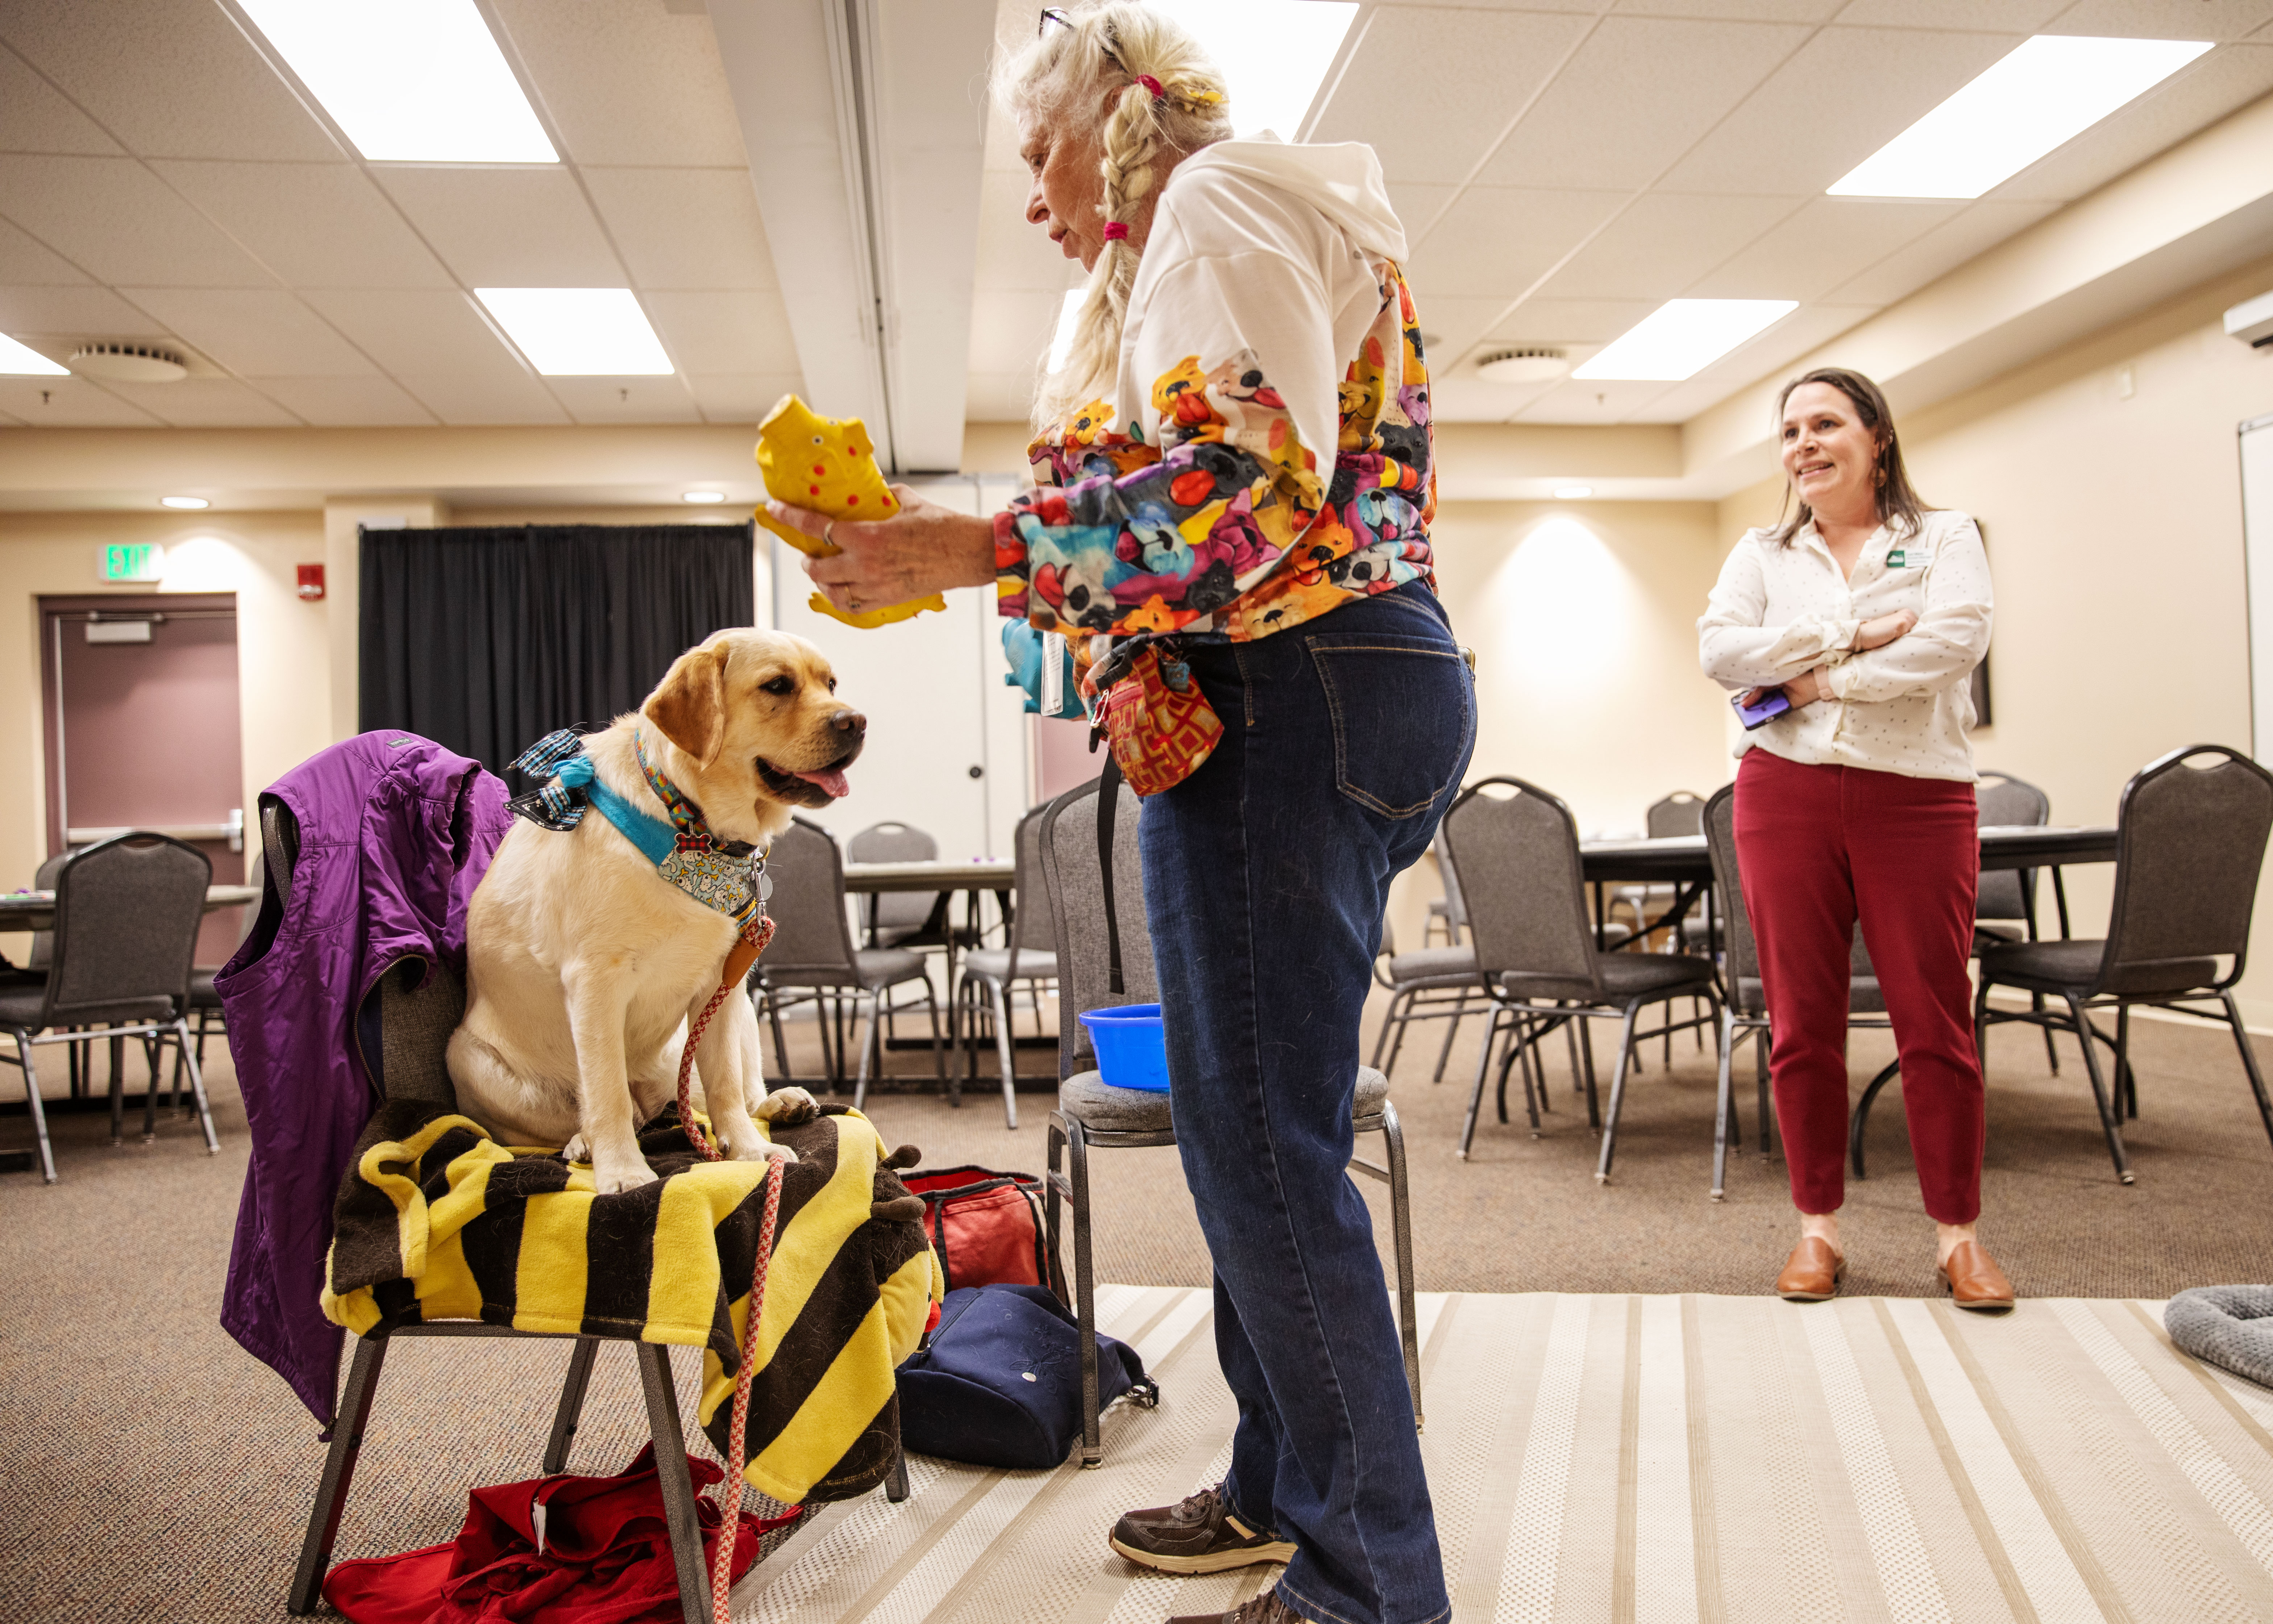
[{"label": "smiling brown-haired woman with folded arms in dark red trousers", "polygon": [[1966,514],[1925,507],[1909,487],[1887,396],[1868,378],[1807,373],[1784,384],[1777,414],[1798,512],[1746,532],[1698,621],[1705,676],[1750,689],[1748,705],[1771,689],[1789,705],[1737,751],[1737,864],[1800,1210],[1775,1290],[1814,1303],[1846,1274],[1859,919],[1900,1053],[1939,1276],[1959,1308],[2012,1308],[2012,1283],[1975,1235],[1987,1115],[1966,978],[1980,880],[1968,678],[1989,651],[1989,560]]}]

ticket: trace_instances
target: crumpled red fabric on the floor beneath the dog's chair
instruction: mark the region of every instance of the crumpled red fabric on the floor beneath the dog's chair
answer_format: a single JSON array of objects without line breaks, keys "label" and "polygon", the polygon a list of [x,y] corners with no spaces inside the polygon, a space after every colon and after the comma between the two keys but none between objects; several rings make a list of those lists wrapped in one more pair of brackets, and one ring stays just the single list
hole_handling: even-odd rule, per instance
[{"label": "crumpled red fabric on the floor beneath the dog's chair", "polygon": [[[686,1458],[696,1490],[725,1472]],[[543,1513],[543,1540],[536,1515]],[[718,1547],[718,1510],[696,1501],[702,1519],[702,1572]],[[757,1560],[768,1528],[798,1517],[741,1513],[734,1579]],[[539,1544],[543,1549],[539,1549]],[[450,1544],[341,1563],[323,1599],[352,1624],[666,1624],[682,1617],[680,1579],[664,1522],[655,1444],[611,1478],[552,1476],[500,1483],[468,1494],[466,1526]]]}]

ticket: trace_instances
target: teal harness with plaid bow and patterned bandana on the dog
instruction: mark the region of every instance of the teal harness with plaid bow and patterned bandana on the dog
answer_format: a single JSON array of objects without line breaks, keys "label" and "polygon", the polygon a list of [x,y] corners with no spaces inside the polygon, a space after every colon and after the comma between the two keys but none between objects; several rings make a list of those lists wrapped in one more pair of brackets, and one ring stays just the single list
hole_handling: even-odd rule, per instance
[{"label": "teal harness with plaid bow and patterned bandana on the dog", "polygon": [[657,873],[698,903],[716,908],[743,930],[761,921],[766,898],[773,894],[764,853],[739,839],[711,835],[702,821],[702,807],[648,764],[646,744],[636,735],[632,744],[639,751],[639,771],[648,776],[648,787],[671,812],[671,821],[634,807],[600,782],[591,757],[584,755],[589,732],[602,732],[602,728],[561,728],[516,755],[516,771],[530,778],[550,778],[550,782],[507,801],[507,807],[541,828],[566,832],[584,819],[584,807],[593,805],[623,830],[625,839],[639,846]]}]

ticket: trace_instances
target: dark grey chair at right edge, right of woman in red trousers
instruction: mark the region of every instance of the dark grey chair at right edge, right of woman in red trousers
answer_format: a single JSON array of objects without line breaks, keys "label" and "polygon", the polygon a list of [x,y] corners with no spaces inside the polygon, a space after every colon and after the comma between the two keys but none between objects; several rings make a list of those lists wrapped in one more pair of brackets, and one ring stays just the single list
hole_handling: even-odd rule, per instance
[{"label": "dark grey chair at right edge, right of woman in red trousers", "polygon": [[[1975,1046],[2003,1021],[2075,1033],[2100,1108],[2116,1178],[2132,1183],[2123,1117],[2139,1115],[2139,1080],[2130,1071],[2130,1012],[2146,1003],[2225,1021],[2241,1049],[2241,1069],[2257,1115],[2273,1140],[2273,1101],[2234,1008],[2250,946],[2250,905],[2273,832],[2273,773],[2223,744],[2189,744],[2148,762],[2116,803],[2116,898],[2103,942],[2007,942],[1982,948],[1973,1001]],[[2218,960],[2228,967],[2218,969]],[[1991,1010],[1991,987],[2059,999],[2059,1010]],[[2196,1005],[2196,1008],[2187,1008]],[[2212,1008],[2200,1008],[2212,1005]],[[2091,1010],[2116,1012],[2109,1039]],[[2114,1094],[2100,1074],[2096,1044],[2116,1058]]]}]

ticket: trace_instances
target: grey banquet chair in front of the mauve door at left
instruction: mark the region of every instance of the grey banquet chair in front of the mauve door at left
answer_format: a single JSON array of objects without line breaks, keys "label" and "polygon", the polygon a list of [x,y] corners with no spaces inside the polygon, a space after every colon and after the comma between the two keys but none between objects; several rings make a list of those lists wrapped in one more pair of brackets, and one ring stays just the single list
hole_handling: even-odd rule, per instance
[{"label": "grey banquet chair in front of the mauve door at left", "polygon": [[[118,1053],[127,1037],[170,1035],[189,1046],[189,960],[205,919],[205,887],[214,864],[195,846],[136,830],[61,860],[55,871],[55,939],[45,980],[0,989],[0,1033],[16,1039],[32,1133],[39,1140],[39,1171],[55,1183],[55,1146],[48,1112],[39,1099],[32,1049],[41,1044],[91,1044],[111,1049],[111,1144],[118,1144],[125,1108],[125,1067]],[[109,1030],[75,1030],[105,1024]],[[189,1067],[191,1096],[205,1149],[220,1151],[214,1112],[205,1103],[205,1076]],[[157,1069],[143,1094],[143,1140],[157,1137]]]}]

